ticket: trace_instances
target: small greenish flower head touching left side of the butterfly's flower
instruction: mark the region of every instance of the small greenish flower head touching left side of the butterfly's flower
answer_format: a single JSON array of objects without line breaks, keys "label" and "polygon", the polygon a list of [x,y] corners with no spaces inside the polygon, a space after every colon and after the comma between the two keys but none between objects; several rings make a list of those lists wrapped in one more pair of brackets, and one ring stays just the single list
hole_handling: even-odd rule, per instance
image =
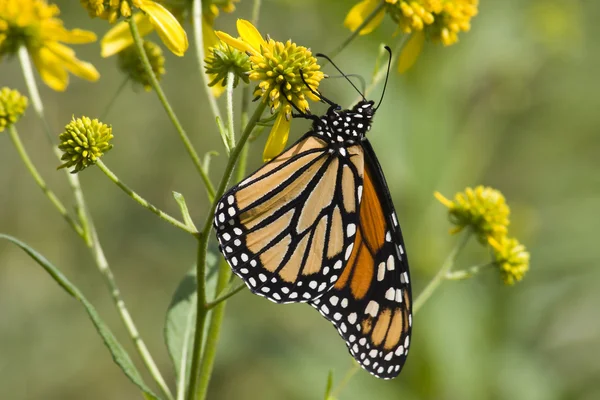
[{"label": "small greenish flower head touching left side of the butterfly's flower", "polygon": [[206,73],[211,77],[209,86],[221,84],[226,86],[227,74],[234,73],[235,80],[233,86],[236,87],[240,78],[250,83],[248,74],[250,73],[250,59],[246,53],[228,45],[225,42],[219,42],[208,51],[206,59]]}]

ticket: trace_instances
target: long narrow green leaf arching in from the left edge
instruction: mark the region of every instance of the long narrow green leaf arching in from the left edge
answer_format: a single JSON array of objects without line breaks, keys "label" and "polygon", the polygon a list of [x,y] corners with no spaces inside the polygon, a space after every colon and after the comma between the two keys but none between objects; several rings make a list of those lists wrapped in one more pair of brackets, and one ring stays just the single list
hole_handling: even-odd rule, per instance
[{"label": "long narrow green leaf arching in from the left edge", "polygon": [[46,272],[52,276],[52,278],[58,283],[67,293],[78,300],[85,311],[88,313],[94,327],[98,334],[102,337],[104,344],[108,347],[108,350],[112,354],[115,363],[121,367],[121,370],[127,375],[127,377],[144,393],[144,397],[148,399],[159,400],[160,398],[155,395],[152,390],[144,383],[139,371],[136,369],[133,361],[129,357],[129,354],[125,351],[123,346],[117,341],[117,338],[112,334],[108,326],[102,321],[98,312],[92,306],[92,304],[83,296],[83,294],[73,285],[50,261],[48,261],[43,255],[35,251],[27,244],[20,240],[0,233],[0,239],[6,239],[9,242],[19,246],[25,253],[29,254],[38,264],[40,264]]}]

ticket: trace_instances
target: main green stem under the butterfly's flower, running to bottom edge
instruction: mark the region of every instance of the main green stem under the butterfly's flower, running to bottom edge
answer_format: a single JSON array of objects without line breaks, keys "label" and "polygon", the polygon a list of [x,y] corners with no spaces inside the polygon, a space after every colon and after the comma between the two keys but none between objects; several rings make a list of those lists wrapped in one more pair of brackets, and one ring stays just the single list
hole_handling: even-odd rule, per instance
[{"label": "main green stem under the butterfly's flower, running to bottom edge", "polygon": [[[242,153],[244,145],[250,136],[254,126],[256,126],[256,122],[262,116],[263,111],[266,108],[266,103],[261,102],[254,114],[250,117],[248,121],[248,125],[246,125],[240,140],[236,144],[236,146],[231,151],[229,156],[229,160],[225,167],[225,172],[223,177],[221,178],[221,182],[219,183],[219,187],[215,193],[215,200],[212,202],[210,209],[208,210],[208,214],[206,216],[206,221],[204,223],[204,228],[202,229],[202,233],[200,235],[199,243],[198,243],[198,257],[196,261],[196,284],[197,284],[197,307],[196,307],[196,330],[194,333],[194,349],[192,351],[192,368],[190,371],[190,385],[188,390],[188,400],[192,399],[200,399],[203,400],[206,394],[207,387],[200,387],[198,379],[200,378],[200,358],[202,353],[202,337],[203,337],[203,329],[204,329],[204,320],[206,318],[206,288],[205,288],[205,269],[206,269],[206,254],[208,251],[208,240],[210,237],[210,232],[212,229],[212,222],[215,210],[217,208],[217,201],[223,196],[225,193],[225,189],[227,188],[227,184],[233,175],[233,170],[235,164]],[[205,383],[208,385],[208,382]]]}]

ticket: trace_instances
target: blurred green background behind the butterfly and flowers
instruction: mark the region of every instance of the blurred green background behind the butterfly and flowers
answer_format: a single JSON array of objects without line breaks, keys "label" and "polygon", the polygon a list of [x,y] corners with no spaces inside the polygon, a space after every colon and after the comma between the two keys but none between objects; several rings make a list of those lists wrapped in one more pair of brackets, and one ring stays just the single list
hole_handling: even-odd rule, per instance
[{"label": "blurred green background behind the butterfly and flowers", "polygon": [[[76,1],[56,2],[68,28],[102,35]],[[329,52],[349,32],[349,0],[264,0],[260,30]],[[219,29],[249,18],[242,0]],[[495,271],[444,284],[414,318],[411,354],[394,381],[364,371],[341,399],[600,398],[600,3],[577,0],[484,1],[460,43],[427,45],[416,66],[393,74],[369,139],[386,173],[411,261],[413,292],[429,281],[456,241],[448,235],[447,197],[465,186],[500,189],[512,208],[512,235],[531,252],[525,280],[505,287]],[[189,26],[186,27],[191,33]],[[336,61],[367,79],[380,43],[395,26],[385,19]],[[72,79],[65,93],[42,87],[57,134],[72,115],[97,117],[123,81],[116,59],[98,43],[75,46],[102,74]],[[201,153],[224,153],[212,123],[193,52],[167,55],[164,88]],[[330,74],[335,72],[326,68]],[[16,59],[0,64],[0,86],[26,93]],[[321,89],[347,105],[341,80]],[[376,90],[373,97],[377,97]],[[239,95],[239,93],[238,93]],[[223,100],[220,100],[221,102]],[[316,106],[314,110],[320,110]],[[114,128],[108,166],[151,202],[178,214],[171,191],[185,195],[197,224],[207,202],[200,179],[153,93],[127,86],[105,122]],[[308,122],[293,124],[293,138]],[[33,110],[18,124],[51,187],[70,201]],[[250,150],[260,165],[266,135]],[[93,261],[46,201],[0,134],[0,231],[45,254],[97,306],[139,358]],[[224,157],[211,175],[220,177]],[[195,259],[194,241],[138,207],[98,170],[80,174],[100,239],[123,296],[161,369],[172,379],[163,344],[164,315]],[[475,243],[459,260],[485,260]],[[327,373],[336,382],[351,367],[337,332],[306,305],[280,306],[243,291],[227,305],[211,399],[319,399]],[[149,381],[149,379],[148,379]],[[22,251],[0,243],[0,399],[140,398],[121,374],[77,302]]]}]

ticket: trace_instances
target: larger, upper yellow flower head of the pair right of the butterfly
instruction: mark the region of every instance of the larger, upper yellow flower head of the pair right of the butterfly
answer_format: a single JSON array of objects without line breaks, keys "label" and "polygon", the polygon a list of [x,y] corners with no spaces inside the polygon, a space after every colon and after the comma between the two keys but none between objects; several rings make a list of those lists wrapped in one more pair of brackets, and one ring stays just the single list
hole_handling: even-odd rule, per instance
[{"label": "larger, upper yellow flower head of the pair right of the butterfly", "polygon": [[481,243],[487,243],[489,238],[500,240],[506,235],[510,209],[498,190],[483,186],[475,189],[468,187],[464,193],[457,193],[454,201],[439,192],[434,195],[448,207],[450,222],[456,225],[452,233],[470,227]]}]

